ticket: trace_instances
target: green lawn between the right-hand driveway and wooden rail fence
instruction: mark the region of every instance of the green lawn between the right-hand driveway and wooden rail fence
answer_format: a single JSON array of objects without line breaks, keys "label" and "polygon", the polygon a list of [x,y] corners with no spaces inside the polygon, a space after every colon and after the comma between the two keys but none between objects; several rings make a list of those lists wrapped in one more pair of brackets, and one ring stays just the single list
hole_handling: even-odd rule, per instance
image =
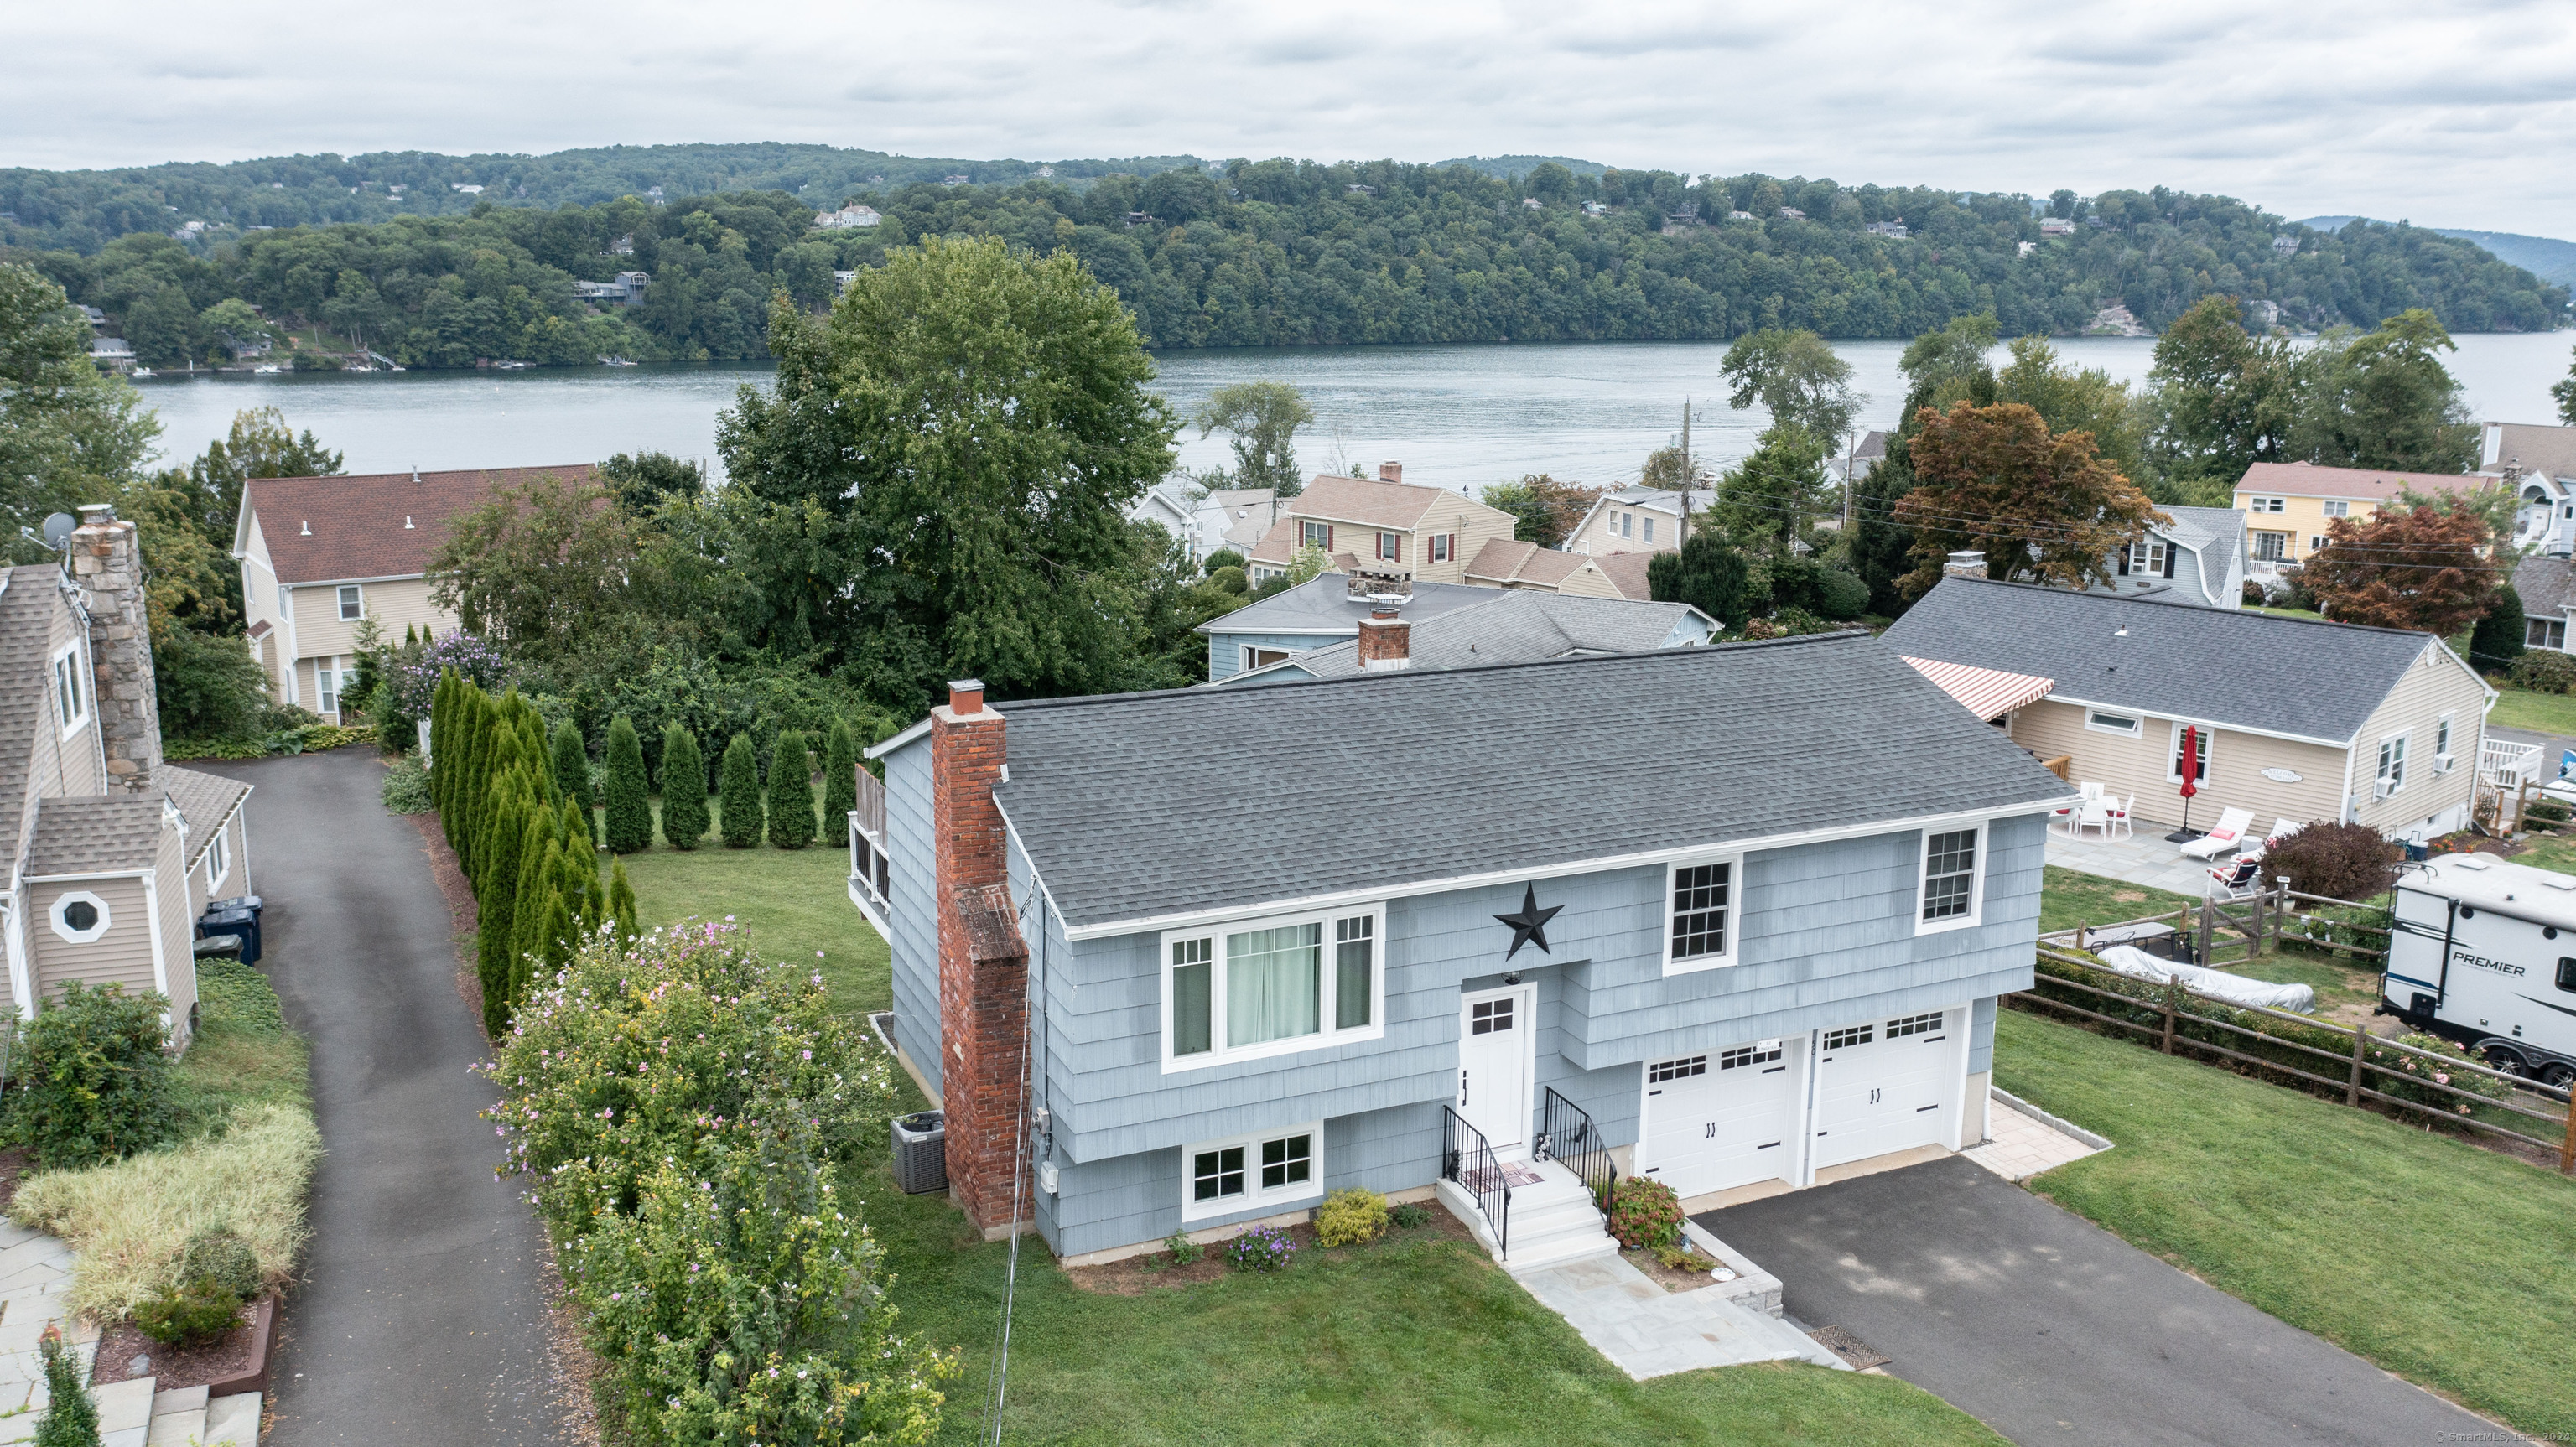
[{"label": "green lawn between the right-hand driveway and wooden rail fence", "polygon": [[2014,1009],[1994,1084],[2117,1143],[2040,1195],[2522,1432],[2576,1434],[2576,1182]]}]

